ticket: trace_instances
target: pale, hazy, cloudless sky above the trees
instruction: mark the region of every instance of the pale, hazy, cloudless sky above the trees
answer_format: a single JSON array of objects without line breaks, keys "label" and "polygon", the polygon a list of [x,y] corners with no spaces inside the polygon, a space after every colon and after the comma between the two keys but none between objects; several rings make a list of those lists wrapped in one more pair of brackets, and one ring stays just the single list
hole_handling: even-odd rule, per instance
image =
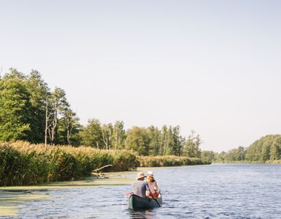
[{"label": "pale, hazy, cloudless sky above the trees", "polygon": [[0,67],[38,70],[86,125],[180,125],[202,150],[281,133],[281,1],[1,1]]}]

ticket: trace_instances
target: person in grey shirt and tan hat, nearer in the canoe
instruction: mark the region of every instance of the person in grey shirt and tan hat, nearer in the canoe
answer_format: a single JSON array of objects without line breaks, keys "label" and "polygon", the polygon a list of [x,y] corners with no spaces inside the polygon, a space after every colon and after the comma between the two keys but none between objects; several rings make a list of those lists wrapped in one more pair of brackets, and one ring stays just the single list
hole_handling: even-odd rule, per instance
[{"label": "person in grey shirt and tan hat, nearer in the canoe", "polygon": [[136,181],[132,183],[133,194],[146,198],[148,196],[153,196],[150,192],[149,185],[147,181],[145,181],[145,174],[143,172],[138,172],[136,177]]}]

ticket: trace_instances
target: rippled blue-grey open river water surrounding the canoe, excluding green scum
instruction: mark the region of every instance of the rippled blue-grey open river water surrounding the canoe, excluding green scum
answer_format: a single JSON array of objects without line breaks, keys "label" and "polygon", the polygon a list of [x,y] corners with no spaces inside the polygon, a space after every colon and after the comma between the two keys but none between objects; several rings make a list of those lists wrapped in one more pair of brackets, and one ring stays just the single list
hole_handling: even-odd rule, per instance
[{"label": "rippled blue-grey open river water surrounding the canoe, excluding green scum", "polygon": [[66,188],[49,190],[48,199],[23,203],[13,218],[281,218],[281,165],[152,170],[164,198],[159,209],[128,210],[121,192],[130,192],[130,185]]}]

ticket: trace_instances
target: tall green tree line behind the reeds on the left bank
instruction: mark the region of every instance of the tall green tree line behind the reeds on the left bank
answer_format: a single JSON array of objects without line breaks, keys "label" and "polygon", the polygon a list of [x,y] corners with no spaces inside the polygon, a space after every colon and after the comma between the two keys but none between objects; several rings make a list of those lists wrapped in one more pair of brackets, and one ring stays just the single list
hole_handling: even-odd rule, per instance
[{"label": "tall green tree line behind the reeds on the left bank", "polygon": [[138,155],[201,157],[201,137],[195,131],[184,137],[179,126],[125,130],[121,120],[102,124],[97,119],[81,125],[64,90],[51,91],[37,70],[25,75],[11,68],[0,78],[0,109],[1,142],[25,140],[35,144],[128,149]]}]

